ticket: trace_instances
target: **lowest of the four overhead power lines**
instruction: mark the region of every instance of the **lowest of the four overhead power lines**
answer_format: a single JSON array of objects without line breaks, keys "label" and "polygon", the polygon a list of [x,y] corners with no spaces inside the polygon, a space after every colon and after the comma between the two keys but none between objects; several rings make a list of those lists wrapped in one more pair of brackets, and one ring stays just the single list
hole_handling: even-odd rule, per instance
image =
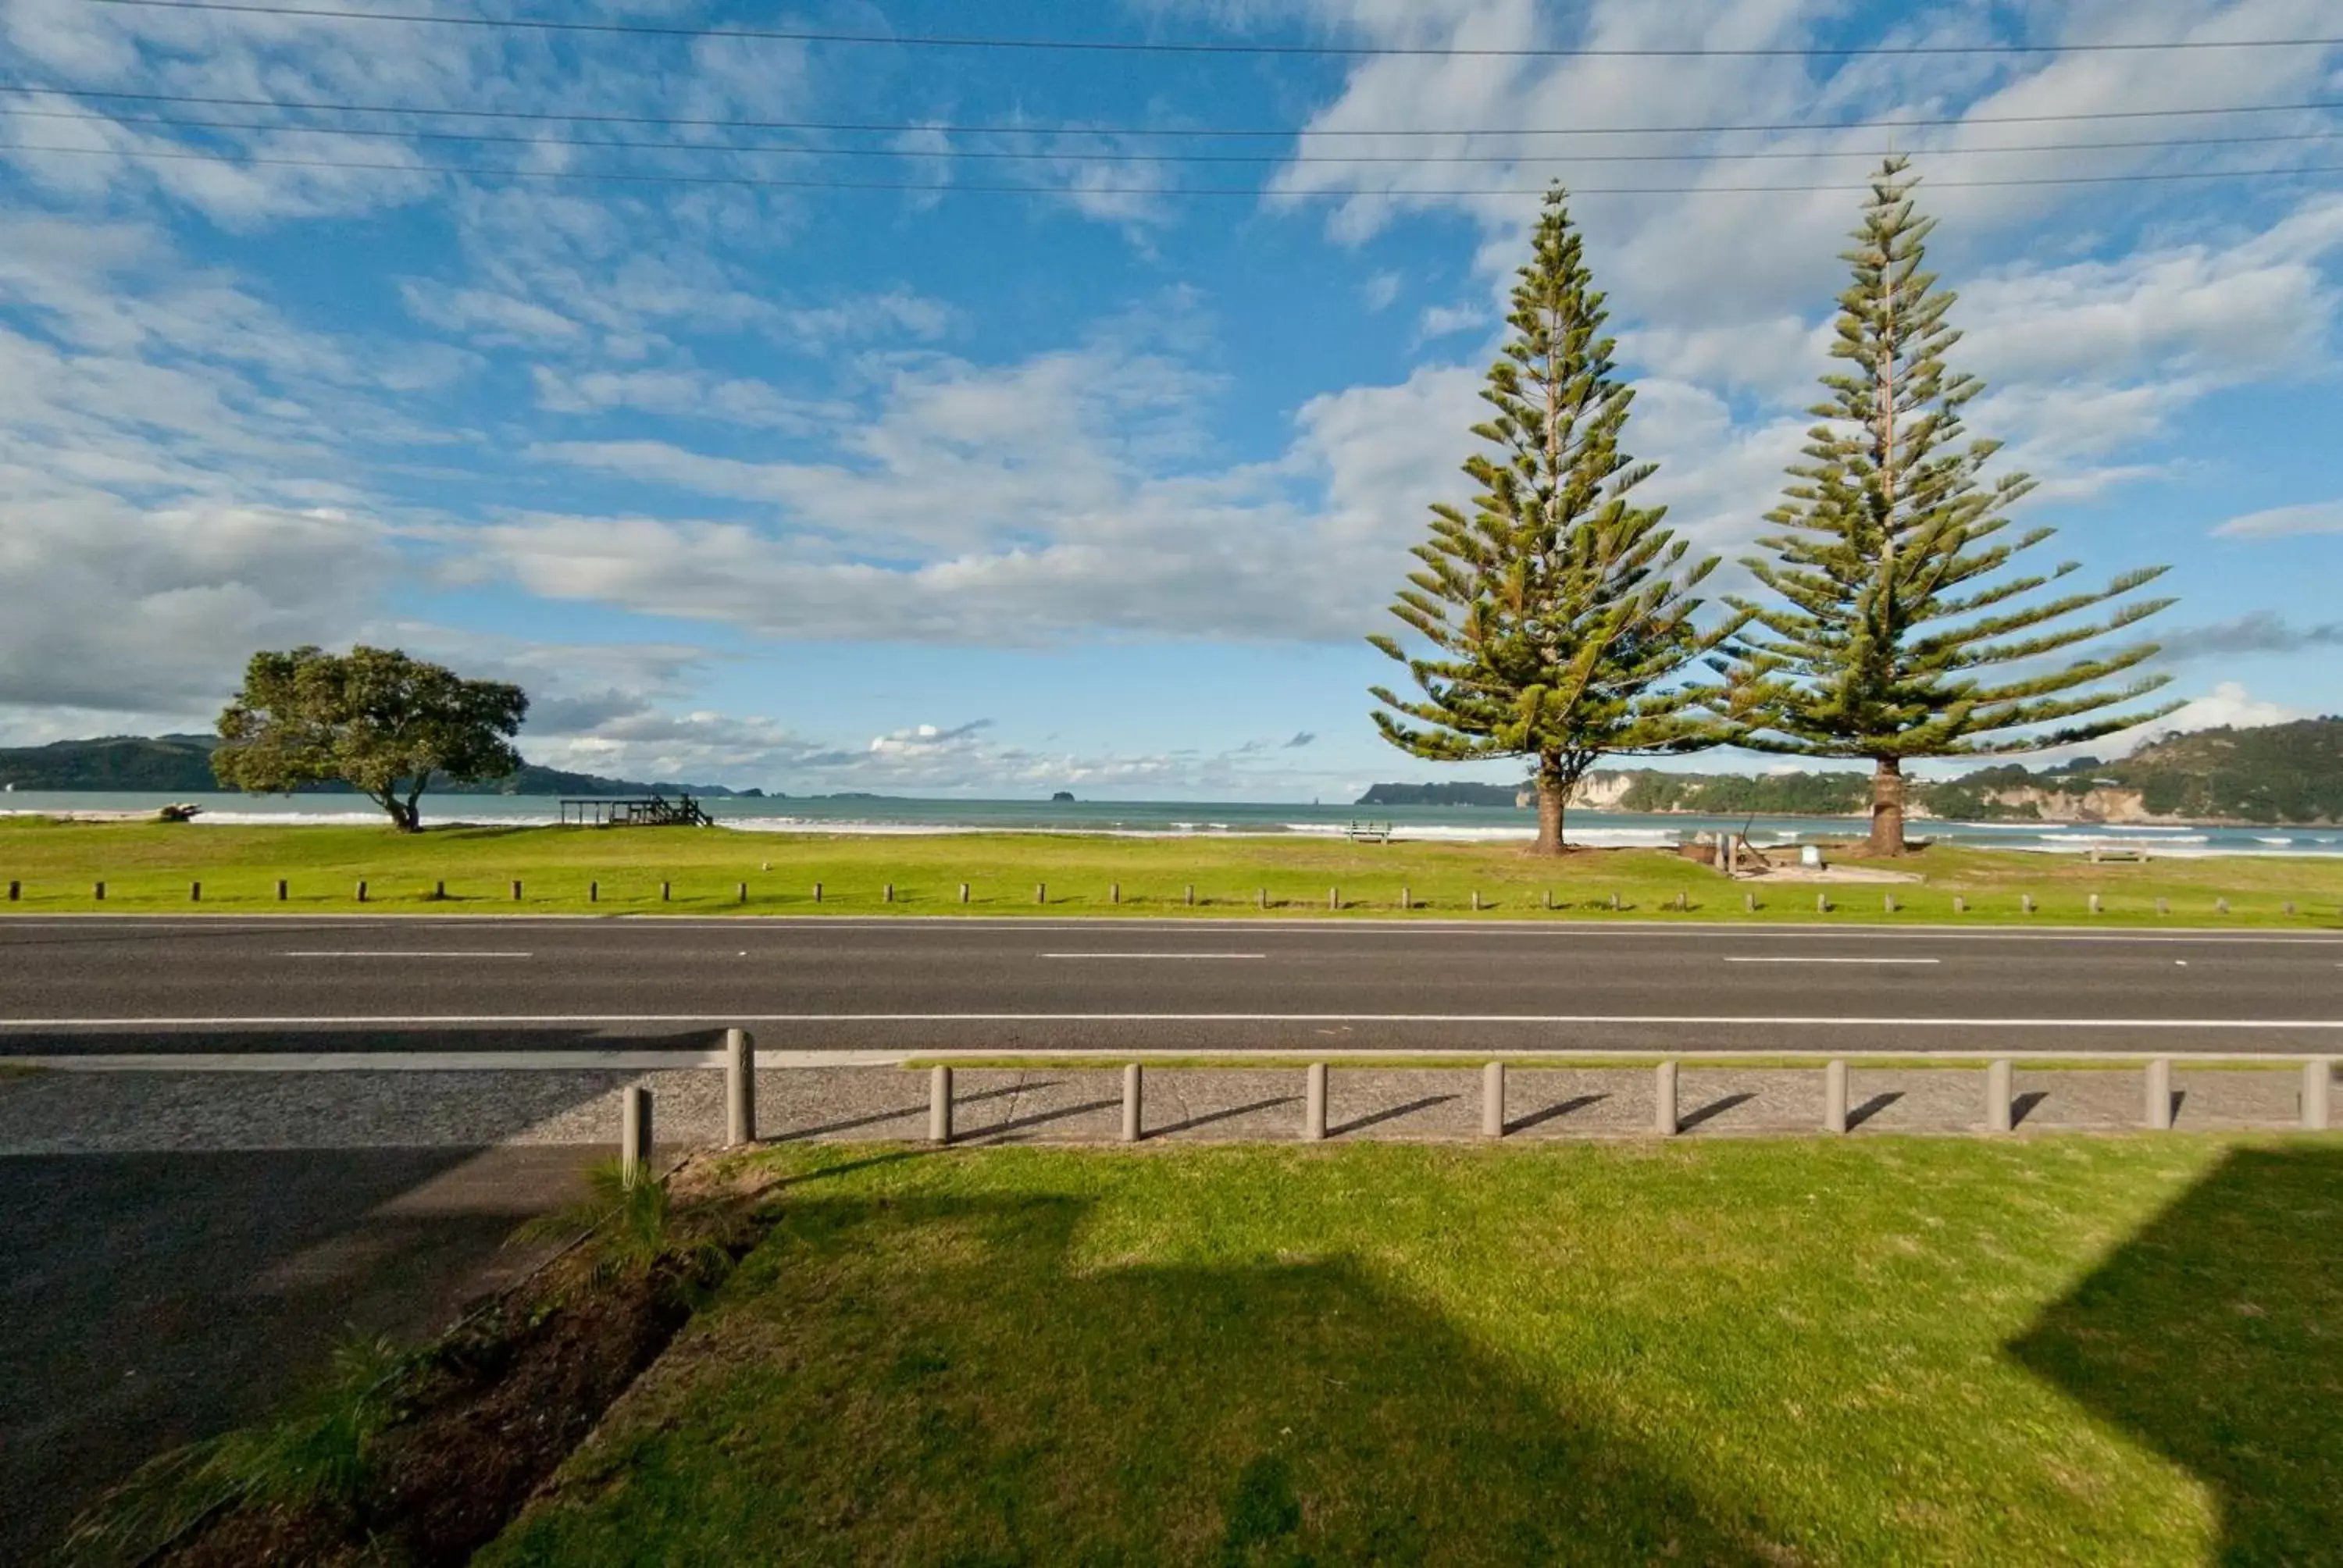
[{"label": "lowest of the four overhead power lines", "polygon": [[[972,185],[963,180],[799,180],[766,176],[724,173],[637,173],[593,169],[480,169],[464,164],[361,164],[328,157],[218,157],[213,152],[157,152],[150,148],[49,148],[37,143],[0,143],[0,152],[59,152],[68,157],[122,157],[206,162],[230,169],[373,169],[384,173],[455,173],[508,180],[588,180],[626,185],[743,185],[766,190],[900,190],[900,192],[968,192],[968,195],[1015,195],[1015,197],[1296,197],[1296,199],[1366,199],[1366,197],[1537,197],[1542,185],[1483,185],[1483,188],[1394,188],[1394,190],[1272,190],[1268,185]],[[2296,169],[2172,169],[2134,173],[2074,173],[2074,176],[2020,176],[1987,180],[1928,180],[1928,190],[1987,190],[2020,185],[2139,185],[2149,180],[2249,180],[2301,173],[2343,173],[2343,164],[2303,164]],[[1708,197],[1708,195],[1816,195],[1872,190],[1867,180],[1851,185],[1574,185],[1572,197]]]}]

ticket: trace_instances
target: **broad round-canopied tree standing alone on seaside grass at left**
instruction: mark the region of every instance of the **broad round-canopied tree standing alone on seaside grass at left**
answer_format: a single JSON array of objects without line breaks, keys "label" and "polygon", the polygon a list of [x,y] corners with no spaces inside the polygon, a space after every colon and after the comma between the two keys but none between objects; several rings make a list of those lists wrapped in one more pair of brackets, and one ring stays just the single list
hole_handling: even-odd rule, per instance
[{"label": "broad round-canopied tree standing alone on seaside grass at left", "polygon": [[340,780],[398,832],[415,832],[433,780],[485,783],[520,769],[513,736],[527,713],[520,687],[464,680],[398,649],[262,652],[220,713],[211,771],[253,795]]}]

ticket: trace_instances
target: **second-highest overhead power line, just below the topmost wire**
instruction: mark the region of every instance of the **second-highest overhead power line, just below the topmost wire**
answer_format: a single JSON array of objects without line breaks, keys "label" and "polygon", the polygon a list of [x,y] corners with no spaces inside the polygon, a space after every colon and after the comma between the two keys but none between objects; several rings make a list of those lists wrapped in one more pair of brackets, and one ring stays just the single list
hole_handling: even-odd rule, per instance
[{"label": "second-highest overhead power line, just below the topmost wire", "polygon": [[52,98],[119,98],[127,103],[187,103],[187,105],[211,105],[211,108],[279,108],[279,110],[314,110],[333,115],[419,115],[436,120],[527,120],[527,122],[576,122],[576,124],[675,124],[694,129],[733,129],[733,131],[841,131],[841,134],[902,134],[902,131],[940,131],[944,136],[1061,136],[1061,134],[1087,134],[1087,136],[1237,136],[1237,138],[1263,138],[1263,136],[1373,136],[1373,138],[1399,138],[1399,136],[1720,136],[1729,131],[1893,131],[1893,129],[1931,129],[1931,127],[1963,127],[1963,124],[2076,124],[2090,120],[2167,120],[2167,117],[2202,117],[2202,115],[2296,115],[2317,110],[2338,110],[2343,98],[2310,98],[2303,103],[2231,103],[2231,105],[2191,105],[2191,108],[2111,108],[2111,110],[2085,110],[2074,115],[1938,115],[1938,117],[1900,117],[1900,120],[1781,120],[1781,122],[1731,122],[1731,124],[1584,124],[1584,127],[1389,127],[1389,129],[1357,129],[1357,127],[1143,127],[1143,124],[1080,124],[1080,127],[1036,127],[1036,124],[975,124],[975,122],[923,122],[923,120],[696,120],[686,115],[604,115],[604,113],[562,113],[562,110],[525,110],[525,108],[424,108],[403,103],[323,103],[316,98],[227,98],[206,94],[155,94],[155,91],[112,91],[105,87],[33,87],[26,82],[0,82],[0,91],[21,91]]}]

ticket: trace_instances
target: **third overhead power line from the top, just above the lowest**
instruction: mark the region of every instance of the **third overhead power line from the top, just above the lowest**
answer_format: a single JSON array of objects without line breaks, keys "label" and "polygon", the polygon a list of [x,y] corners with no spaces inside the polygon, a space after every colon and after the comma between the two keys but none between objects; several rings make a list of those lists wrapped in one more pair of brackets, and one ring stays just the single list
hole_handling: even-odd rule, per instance
[{"label": "third overhead power line from the top, just above the lowest", "polygon": [[[1699,164],[1699,162],[1797,162],[1821,157],[1879,157],[1870,148],[1760,148],[1746,152],[1120,152],[1120,150],[1003,150],[1003,148],[827,148],[804,143],[717,143],[717,141],[626,141],[612,136],[515,136],[499,131],[415,131],[340,124],[262,124],[253,120],[173,120],[169,115],[84,115],[54,108],[14,108],[0,103],[0,115],[16,120],[80,120],[96,124],[157,124],[185,131],[293,131],[300,136],[373,136],[391,141],[473,141],[522,148],[609,148],[626,152],[759,152],[790,157],[925,157],[975,162],[1054,162],[1054,164]],[[2163,136],[2132,141],[2045,141],[2008,148],[1933,148],[1928,157],[1968,157],[1980,152],[2125,152],[2149,148],[2242,148],[2303,141],[2336,141],[2343,131],[2282,131],[2268,136]]]}]

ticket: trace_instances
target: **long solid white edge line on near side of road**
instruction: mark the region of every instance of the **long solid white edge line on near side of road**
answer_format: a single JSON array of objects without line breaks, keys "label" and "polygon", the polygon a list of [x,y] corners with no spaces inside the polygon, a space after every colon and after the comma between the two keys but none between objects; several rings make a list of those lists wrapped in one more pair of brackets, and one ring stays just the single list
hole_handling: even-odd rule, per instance
[{"label": "long solid white edge line on near side of road", "polygon": [[[1710,1029],[2334,1029],[2343,1017],[1816,1017],[1729,1013],[366,1013],[0,1017],[0,1029],[440,1029],[492,1024],[1671,1024]],[[998,1052],[996,1052],[998,1055]],[[1193,1055],[1193,1052],[1190,1052]]]}]

